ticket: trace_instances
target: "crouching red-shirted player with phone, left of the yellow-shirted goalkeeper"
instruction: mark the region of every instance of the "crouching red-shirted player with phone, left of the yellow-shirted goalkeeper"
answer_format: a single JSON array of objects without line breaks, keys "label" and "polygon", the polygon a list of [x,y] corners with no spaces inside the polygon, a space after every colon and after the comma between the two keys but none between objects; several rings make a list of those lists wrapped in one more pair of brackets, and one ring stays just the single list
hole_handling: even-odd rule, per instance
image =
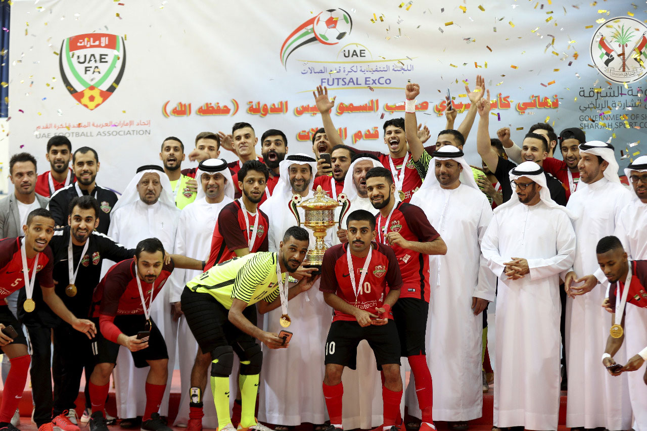
[{"label": "crouching red-shirted player with phone, left of the yellow-shirted goalkeeper", "polygon": [[164,246],[159,239],[143,239],[137,244],[135,256],[113,265],[94,291],[93,319],[100,331],[93,343],[96,366],[89,385],[91,431],[108,429],[104,417],[105,399],[120,345],[131,351],[137,368],[150,366],[142,430],[171,429],[162,423],[157,413],[168,378],[168,352],[162,333],[150,318],[151,305],[173,268],[202,271],[204,261],[172,254],[165,263],[164,257]]}]

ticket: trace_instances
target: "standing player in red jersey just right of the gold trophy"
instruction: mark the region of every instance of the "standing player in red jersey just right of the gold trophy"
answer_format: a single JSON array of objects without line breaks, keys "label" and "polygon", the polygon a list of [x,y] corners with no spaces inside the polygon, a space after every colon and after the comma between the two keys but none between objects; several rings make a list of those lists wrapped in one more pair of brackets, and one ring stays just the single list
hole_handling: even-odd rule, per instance
[{"label": "standing player in red jersey just right of the gold trophy", "polygon": [[368,171],[366,191],[373,208],[380,210],[376,216],[378,242],[393,247],[402,272],[403,285],[393,316],[401,354],[409,360],[415,377],[421,430],[432,430],[432,375],[424,351],[430,296],[427,255],[445,254],[447,246],[419,206],[395,201],[395,184],[389,170]]}]

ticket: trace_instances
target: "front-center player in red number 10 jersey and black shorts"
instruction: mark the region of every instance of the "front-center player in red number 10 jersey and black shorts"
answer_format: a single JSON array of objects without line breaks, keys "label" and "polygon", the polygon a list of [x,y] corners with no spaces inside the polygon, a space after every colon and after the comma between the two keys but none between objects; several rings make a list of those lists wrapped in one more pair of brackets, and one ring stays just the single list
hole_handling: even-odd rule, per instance
[{"label": "front-center player in red number 10 jersey and black shorts", "polygon": [[[331,425],[342,429],[342,372],[355,370],[357,345],[367,340],[384,373],[382,400],[384,430],[395,431],[402,399],[400,342],[391,307],[402,287],[400,267],[393,250],[375,240],[375,217],[356,210],[347,218],[349,242],[335,245],[323,255],[322,281],[326,304],[334,309],[325,345],[325,397]],[[372,396],[372,394],[370,394]]]}]

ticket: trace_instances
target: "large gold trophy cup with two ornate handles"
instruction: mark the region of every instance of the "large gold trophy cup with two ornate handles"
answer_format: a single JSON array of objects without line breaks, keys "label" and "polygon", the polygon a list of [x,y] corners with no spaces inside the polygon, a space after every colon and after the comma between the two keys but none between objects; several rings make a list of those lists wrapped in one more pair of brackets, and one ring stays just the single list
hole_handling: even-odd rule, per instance
[{"label": "large gold trophy cup with two ornate handles", "polygon": [[[323,263],[323,253],[325,253],[325,250],[328,248],[323,242],[325,233],[334,225],[338,225],[340,228],[342,227],[342,219],[344,219],[345,214],[348,212],[350,203],[348,202],[345,193],[339,193],[338,201],[331,199],[323,191],[322,186],[317,186],[314,196],[310,199],[305,199],[305,201],[302,201],[301,199],[300,195],[293,195],[289,207],[296,218],[296,223],[313,231],[316,241],[313,249],[308,250],[305,254],[303,267],[316,267],[319,271],[314,272],[314,274],[318,274]],[[305,221],[301,221],[297,208],[298,206],[303,208],[305,211]],[[334,210],[338,206],[342,206],[342,210],[340,211],[339,219],[335,220]]]}]

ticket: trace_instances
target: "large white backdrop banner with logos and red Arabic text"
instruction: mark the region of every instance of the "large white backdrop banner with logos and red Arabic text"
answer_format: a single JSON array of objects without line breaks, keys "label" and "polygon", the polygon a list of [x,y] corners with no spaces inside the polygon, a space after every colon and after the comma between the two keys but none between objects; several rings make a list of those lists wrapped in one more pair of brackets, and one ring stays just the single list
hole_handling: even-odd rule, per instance
[{"label": "large white backdrop banner with logos and red Arabic text", "polygon": [[[403,115],[407,80],[421,85],[418,119],[433,140],[447,89],[467,108],[465,83],[482,74],[492,137],[582,127],[611,139],[623,168],[647,127],[645,19],[644,5],[619,0],[14,0],[10,152],[46,171],[47,140],[65,135],[96,149],[98,183],[122,192],[171,135],[188,153],[197,133],[245,121],[311,151],[316,85],[341,102],[333,120],[347,144],[386,151],[382,124]],[[475,139],[465,152],[480,164]]]}]

